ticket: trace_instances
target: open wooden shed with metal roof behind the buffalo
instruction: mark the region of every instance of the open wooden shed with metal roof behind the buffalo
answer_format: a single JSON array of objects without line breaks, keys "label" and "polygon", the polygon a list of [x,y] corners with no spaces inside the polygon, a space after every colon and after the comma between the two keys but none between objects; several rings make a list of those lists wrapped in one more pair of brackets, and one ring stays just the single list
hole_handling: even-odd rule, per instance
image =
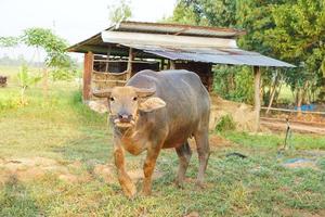
[{"label": "open wooden shed with metal roof behind the buffalo", "polygon": [[83,101],[92,89],[123,86],[142,69],[184,68],[199,75],[212,90],[213,64],[251,65],[255,73],[257,129],[260,111],[260,66],[295,67],[291,64],[238,49],[236,38],[245,31],[180,24],[121,22],[72,46],[84,53]]}]

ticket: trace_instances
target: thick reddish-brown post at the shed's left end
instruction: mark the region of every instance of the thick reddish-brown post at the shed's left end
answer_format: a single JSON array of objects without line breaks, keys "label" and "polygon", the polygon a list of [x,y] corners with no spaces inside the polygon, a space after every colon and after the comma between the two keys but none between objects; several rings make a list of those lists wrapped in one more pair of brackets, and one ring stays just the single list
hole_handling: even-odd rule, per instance
[{"label": "thick reddish-brown post at the shed's left end", "polygon": [[84,53],[83,60],[83,89],[82,89],[82,99],[89,101],[91,98],[91,74],[93,71],[93,53]]}]

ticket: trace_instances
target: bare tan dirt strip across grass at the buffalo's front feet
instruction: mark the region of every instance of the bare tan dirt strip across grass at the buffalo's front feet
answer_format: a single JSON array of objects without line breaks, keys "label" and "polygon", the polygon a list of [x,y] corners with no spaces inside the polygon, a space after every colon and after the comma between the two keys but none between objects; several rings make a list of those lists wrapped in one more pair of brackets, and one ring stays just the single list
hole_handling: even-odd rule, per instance
[{"label": "bare tan dirt strip across grass at the buffalo's front feet", "polygon": [[[118,182],[113,164],[94,164],[93,168],[89,170],[84,169],[83,164],[79,161],[64,164],[46,157],[0,158],[0,183],[6,182],[11,177],[16,177],[18,181],[23,182],[31,181],[49,173],[69,183],[84,182],[94,178],[102,178],[106,183]],[[132,169],[128,174],[133,181],[143,178],[142,169]],[[153,179],[161,176],[162,173],[155,170]]]}]

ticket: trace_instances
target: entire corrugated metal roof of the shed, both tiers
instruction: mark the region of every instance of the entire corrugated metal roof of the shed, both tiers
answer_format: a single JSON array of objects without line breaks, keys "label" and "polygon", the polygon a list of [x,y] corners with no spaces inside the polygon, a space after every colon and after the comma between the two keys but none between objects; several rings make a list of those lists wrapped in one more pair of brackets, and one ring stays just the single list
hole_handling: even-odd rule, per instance
[{"label": "entire corrugated metal roof of the shed, both tiers", "polygon": [[[243,35],[245,31],[231,29],[231,28],[216,28],[216,27],[204,27],[204,26],[190,26],[190,25],[179,25],[179,24],[161,24],[161,23],[142,23],[142,22],[121,22],[115,26],[106,29],[106,31],[122,31],[122,33],[145,33],[150,35],[165,34],[172,35],[173,39],[193,38],[190,41],[177,40],[172,43],[167,43],[166,40],[159,39],[158,41],[150,42],[145,39],[147,36],[134,38],[115,38],[114,41],[112,37],[105,38],[105,31],[98,34],[80,43],[72,46],[68,50],[75,52],[87,52],[93,51],[98,53],[106,53],[108,44],[122,44],[126,47],[131,47],[143,51],[142,53],[153,54],[162,56],[170,60],[186,60],[195,62],[205,63],[218,63],[218,64],[233,64],[233,65],[259,65],[259,66],[278,66],[278,67],[295,67],[289,63],[278,61],[265,55],[261,55],[256,52],[244,51],[236,48],[235,40],[232,39],[235,36]],[[107,35],[107,34],[106,34]],[[144,34],[143,34],[144,35]],[[139,36],[139,34],[138,34]],[[161,35],[160,35],[161,36]],[[206,42],[204,44],[204,37],[211,37],[208,40],[219,40],[217,43]],[[167,37],[166,37],[167,38]],[[202,43],[198,43],[203,40]],[[205,38],[207,40],[207,38]],[[165,42],[164,42],[165,41]],[[169,41],[169,42],[170,42]],[[234,42],[232,42],[234,41]],[[198,43],[199,46],[195,46]],[[120,48],[121,49],[121,48]],[[125,48],[123,48],[125,49]],[[126,53],[127,54],[127,53]]]}]

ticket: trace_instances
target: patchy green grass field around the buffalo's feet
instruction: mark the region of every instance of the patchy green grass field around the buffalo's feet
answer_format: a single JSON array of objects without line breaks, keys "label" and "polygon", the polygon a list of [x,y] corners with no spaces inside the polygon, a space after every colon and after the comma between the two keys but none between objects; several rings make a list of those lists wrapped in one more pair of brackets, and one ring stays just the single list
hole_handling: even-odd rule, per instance
[{"label": "patchy green grass field around the buffalo's feet", "polygon": [[[15,82],[0,89],[0,216],[325,216],[324,138],[294,132],[280,154],[284,135],[213,132],[204,190],[194,183],[196,153],[178,189],[178,157],[165,150],[153,195],[129,201],[116,181],[106,116],[81,103],[78,84],[51,84],[48,98],[29,88],[22,106]],[[284,167],[297,157],[313,164]],[[144,155],[127,159],[134,174]]]}]

